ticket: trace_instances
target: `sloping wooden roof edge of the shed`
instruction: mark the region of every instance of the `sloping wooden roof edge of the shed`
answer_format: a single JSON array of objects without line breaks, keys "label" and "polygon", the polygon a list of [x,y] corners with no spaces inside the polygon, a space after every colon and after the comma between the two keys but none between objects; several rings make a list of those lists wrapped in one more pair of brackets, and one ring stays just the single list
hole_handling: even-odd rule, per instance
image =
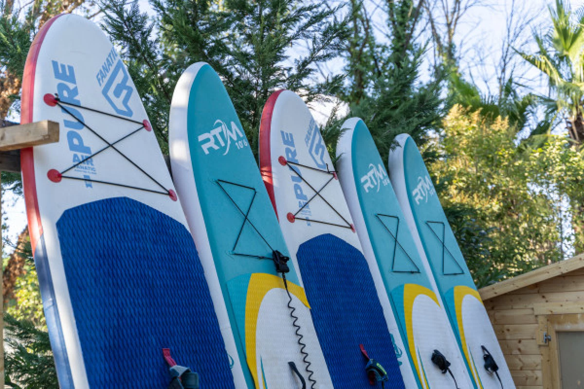
[{"label": "sloping wooden roof edge of the shed", "polygon": [[479,290],[482,300],[489,300],[493,297],[505,295],[514,290],[524,288],[525,286],[533,285],[536,282],[545,281],[552,277],[569,273],[571,271],[584,267],[584,254],[573,257],[569,260],[559,261],[555,264],[544,266],[543,268],[535,269],[529,273],[518,275],[516,277],[506,279],[495,283],[494,285],[485,286]]}]

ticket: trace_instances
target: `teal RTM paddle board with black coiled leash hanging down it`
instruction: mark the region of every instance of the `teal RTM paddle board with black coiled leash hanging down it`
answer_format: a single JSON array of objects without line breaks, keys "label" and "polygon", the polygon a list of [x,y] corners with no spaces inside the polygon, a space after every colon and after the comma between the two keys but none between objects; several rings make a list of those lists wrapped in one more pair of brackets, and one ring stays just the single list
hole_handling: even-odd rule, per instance
[{"label": "teal RTM paddle board with black coiled leash hanging down it", "polygon": [[218,275],[228,311],[221,328],[235,338],[247,386],[297,389],[304,380],[332,389],[296,270],[290,264],[286,284],[276,271],[274,252],[289,254],[248,139],[204,62],[176,85],[169,143],[181,204],[203,267]]}]

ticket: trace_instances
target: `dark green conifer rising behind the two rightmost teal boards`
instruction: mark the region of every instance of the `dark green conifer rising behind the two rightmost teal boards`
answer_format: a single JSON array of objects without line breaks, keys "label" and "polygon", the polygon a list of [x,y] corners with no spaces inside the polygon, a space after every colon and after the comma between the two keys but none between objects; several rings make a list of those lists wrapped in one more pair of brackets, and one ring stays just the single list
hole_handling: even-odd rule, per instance
[{"label": "dark green conifer rising behind the two rightmost teal boards", "polygon": [[351,0],[352,37],[345,47],[349,83],[342,99],[351,116],[362,118],[371,131],[382,159],[387,160],[395,135],[410,134],[418,145],[442,117],[440,80],[420,82],[424,47],[415,31],[422,3],[413,0],[385,2],[389,40],[373,33],[371,16],[360,0]]}]

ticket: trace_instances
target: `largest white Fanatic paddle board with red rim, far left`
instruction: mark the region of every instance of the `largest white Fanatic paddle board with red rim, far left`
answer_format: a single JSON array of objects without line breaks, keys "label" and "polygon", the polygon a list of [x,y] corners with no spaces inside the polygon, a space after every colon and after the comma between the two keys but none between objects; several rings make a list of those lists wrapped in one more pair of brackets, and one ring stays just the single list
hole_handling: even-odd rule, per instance
[{"label": "largest white Fanatic paddle board with red rim, far left", "polygon": [[53,17],[30,47],[22,123],[40,120],[60,139],[23,149],[22,177],[60,387],[167,387],[169,348],[201,387],[234,388],[220,287],[207,285],[126,66],[84,17]]}]

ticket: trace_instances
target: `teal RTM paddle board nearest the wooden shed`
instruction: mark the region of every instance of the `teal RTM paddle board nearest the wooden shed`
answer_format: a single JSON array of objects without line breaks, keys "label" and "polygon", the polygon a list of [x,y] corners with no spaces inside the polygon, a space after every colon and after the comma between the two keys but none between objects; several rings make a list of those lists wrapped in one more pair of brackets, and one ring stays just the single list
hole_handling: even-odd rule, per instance
[{"label": "teal RTM paddle board nearest the wooden shed", "polygon": [[[434,276],[434,290],[442,297],[474,386],[515,388],[491,320],[440,205],[422,155],[409,135],[398,135],[396,141],[399,145],[389,157],[391,183],[418,253],[428,274]],[[491,355],[498,365],[500,381],[497,374],[485,369],[485,355]]]}]

